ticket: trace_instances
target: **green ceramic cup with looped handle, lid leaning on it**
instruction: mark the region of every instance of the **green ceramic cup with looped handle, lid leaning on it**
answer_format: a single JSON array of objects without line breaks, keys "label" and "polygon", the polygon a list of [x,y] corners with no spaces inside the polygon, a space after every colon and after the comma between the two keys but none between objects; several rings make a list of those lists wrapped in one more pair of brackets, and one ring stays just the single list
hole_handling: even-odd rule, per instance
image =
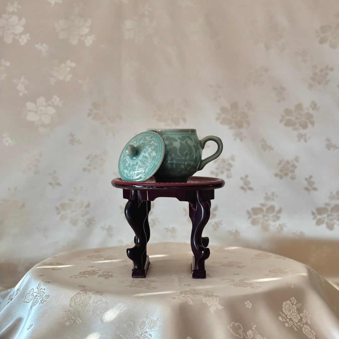
[{"label": "green ceramic cup with looped handle, lid leaning on it", "polygon": [[[197,171],[222,152],[222,141],[215,136],[198,139],[195,129],[149,129],[158,133],[165,143],[164,159],[154,174],[156,182],[187,182]],[[201,159],[207,141],[215,141],[217,151],[206,159]]]}]

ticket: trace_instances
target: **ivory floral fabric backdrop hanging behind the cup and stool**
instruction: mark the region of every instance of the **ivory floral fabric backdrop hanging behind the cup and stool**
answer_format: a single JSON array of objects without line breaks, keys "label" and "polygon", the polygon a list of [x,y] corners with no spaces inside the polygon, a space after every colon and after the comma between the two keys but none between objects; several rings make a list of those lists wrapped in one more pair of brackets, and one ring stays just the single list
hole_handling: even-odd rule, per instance
[{"label": "ivory floral fabric backdrop hanging behind the cup and stool", "polygon": [[[339,281],[338,45],[336,1],[0,1],[0,285],[131,244],[110,181],[129,139],[166,127],[223,140],[197,173],[225,180],[212,244]],[[152,204],[151,242],[190,241],[186,204]]]}]

